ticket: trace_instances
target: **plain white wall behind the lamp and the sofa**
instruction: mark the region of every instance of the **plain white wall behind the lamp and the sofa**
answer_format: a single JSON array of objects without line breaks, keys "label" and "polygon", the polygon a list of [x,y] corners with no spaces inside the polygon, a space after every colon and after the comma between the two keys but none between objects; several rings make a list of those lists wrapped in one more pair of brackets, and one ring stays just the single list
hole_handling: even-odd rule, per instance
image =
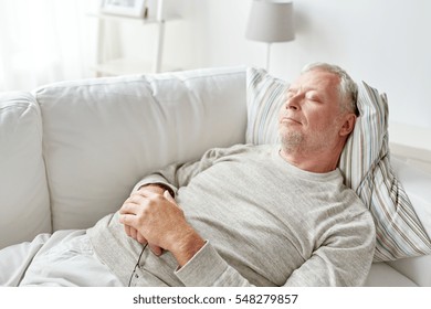
[{"label": "plain white wall behind the lamp and the sofa", "polygon": [[[252,0],[169,2],[183,21],[167,24],[167,62],[265,65],[264,43],[244,38]],[[392,140],[431,149],[431,1],[294,0],[294,11],[296,40],[273,44],[271,73],[292,81],[308,62],[338,64],[388,94]],[[428,140],[400,136],[406,126]]]}]

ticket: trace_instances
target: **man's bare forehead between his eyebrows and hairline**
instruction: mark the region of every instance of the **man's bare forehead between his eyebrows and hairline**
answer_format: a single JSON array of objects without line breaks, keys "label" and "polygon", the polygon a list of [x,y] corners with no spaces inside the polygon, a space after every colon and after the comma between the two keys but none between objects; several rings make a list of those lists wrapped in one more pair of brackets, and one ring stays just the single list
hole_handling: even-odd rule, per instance
[{"label": "man's bare forehead between his eyebrows and hairline", "polygon": [[301,88],[302,90],[318,90],[328,95],[338,93],[339,77],[330,72],[322,70],[312,70],[299,75],[292,83],[291,88]]}]

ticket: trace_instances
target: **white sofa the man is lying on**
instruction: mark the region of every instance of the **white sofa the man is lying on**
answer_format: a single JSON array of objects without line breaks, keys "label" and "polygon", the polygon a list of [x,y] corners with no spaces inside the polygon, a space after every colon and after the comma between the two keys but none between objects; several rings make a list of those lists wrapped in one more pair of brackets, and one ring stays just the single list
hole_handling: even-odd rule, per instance
[{"label": "white sofa the man is lying on", "polygon": [[[0,94],[0,248],[92,226],[144,174],[211,147],[243,143],[246,122],[245,67]],[[392,159],[430,234],[431,173]],[[367,286],[431,286],[431,256],[374,264]]]}]

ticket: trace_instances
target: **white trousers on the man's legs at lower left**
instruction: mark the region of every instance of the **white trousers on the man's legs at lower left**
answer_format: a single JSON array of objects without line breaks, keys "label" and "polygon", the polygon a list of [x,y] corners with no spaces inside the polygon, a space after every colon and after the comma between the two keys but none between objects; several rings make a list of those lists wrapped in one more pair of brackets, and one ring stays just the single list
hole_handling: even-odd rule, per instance
[{"label": "white trousers on the man's legs at lower left", "polygon": [[93,252],[85,230],[40,234],[0,251],[1,286],[123,286]]}]

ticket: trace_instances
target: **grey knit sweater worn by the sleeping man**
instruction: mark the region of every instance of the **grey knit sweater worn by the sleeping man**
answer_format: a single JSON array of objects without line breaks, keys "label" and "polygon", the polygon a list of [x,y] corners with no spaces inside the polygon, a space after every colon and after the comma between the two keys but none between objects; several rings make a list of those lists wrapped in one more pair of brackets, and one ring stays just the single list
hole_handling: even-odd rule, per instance
[{"label": "grey knit sweater worn by the sleeping man", "polygon": [[[178,269],[172,255],[141,257],[141,286],[360,286],[369,271],[375,227],[338,170],[291,166],[274,146],[212,149],[195,163],[172,164],[145,183],[170,184],[206,245]],[[127,285],[140,244],[118,214],[88,235],[97,256]]]}]

